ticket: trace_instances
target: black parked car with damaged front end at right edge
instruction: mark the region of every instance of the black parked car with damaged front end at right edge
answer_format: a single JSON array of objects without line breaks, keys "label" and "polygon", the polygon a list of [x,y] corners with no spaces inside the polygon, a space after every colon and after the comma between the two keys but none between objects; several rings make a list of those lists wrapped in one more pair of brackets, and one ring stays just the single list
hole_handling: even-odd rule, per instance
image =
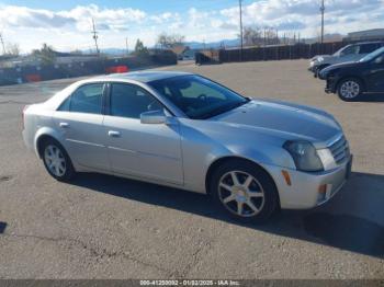
[{"label": "black parked car with damaged front end at right edge", "polygon": [[364,93],[384,93],[384,47],[360,61],[325,68],[319,78],[327,80],[327,93],[337,93],[343,101],[359,100]]}]

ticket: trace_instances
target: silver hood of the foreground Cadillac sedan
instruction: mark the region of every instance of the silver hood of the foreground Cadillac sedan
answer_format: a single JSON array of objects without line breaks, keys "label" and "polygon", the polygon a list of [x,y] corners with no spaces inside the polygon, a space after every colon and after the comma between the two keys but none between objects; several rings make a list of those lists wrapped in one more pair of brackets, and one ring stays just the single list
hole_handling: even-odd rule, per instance
[{"label": "silver hood of the foreground Cadillac sedan", "polygon": [[282,139],[306,139],[318,146],[341,133],[340,125],[324,111],[269,100],[252,100],[214,120]]}]

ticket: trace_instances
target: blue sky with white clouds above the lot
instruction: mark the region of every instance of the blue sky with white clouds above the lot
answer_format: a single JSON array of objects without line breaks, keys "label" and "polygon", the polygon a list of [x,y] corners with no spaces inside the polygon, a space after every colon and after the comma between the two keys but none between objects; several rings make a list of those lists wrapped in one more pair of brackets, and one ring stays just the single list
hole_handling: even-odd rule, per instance
[{"label": "blue sky with white clouds above the lot", "polygon": [[[320,0],[242,0],[244,25],[271,26],[280,34],[319,35]],[[325,0],[326,33],[384,27],[384,0]],[[238,0],[0,0],[5,46],[22,53],[47,43],[57,50],[94,48],[94,19],[101,48],[154,46],[165,32],[188,42],[217,42],[239,34]],[[0,49],[1,51],[1,49]]]}]

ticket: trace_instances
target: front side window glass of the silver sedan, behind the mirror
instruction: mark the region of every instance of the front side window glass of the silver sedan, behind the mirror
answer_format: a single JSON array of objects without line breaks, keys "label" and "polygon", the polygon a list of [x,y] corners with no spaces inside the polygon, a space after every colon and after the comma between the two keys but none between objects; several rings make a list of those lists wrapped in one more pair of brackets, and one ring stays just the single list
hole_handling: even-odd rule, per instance
[{"label": "front side window glass of the silver sedan, behind the mirror", "polygon": [[111,91],[111,116],[140,118],[140,114],[158,111],[162,105],[138,85],[113,83]]}]

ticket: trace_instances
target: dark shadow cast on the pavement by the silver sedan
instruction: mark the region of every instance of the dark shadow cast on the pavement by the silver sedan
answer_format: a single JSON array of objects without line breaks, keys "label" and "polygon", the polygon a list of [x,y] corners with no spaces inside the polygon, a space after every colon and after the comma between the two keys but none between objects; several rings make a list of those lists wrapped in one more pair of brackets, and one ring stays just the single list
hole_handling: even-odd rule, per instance
[{"label": "dark shadow cast on the pavement by the silver sedan", "polygon": [[213,207],[211,198],[202,194],[91,173],[79,174],[71,184],[255,231],[384,257],[384,175],[352,173],[349,183],[328,204],[312,210],[282,210],[263,225],[238,222]]}]

